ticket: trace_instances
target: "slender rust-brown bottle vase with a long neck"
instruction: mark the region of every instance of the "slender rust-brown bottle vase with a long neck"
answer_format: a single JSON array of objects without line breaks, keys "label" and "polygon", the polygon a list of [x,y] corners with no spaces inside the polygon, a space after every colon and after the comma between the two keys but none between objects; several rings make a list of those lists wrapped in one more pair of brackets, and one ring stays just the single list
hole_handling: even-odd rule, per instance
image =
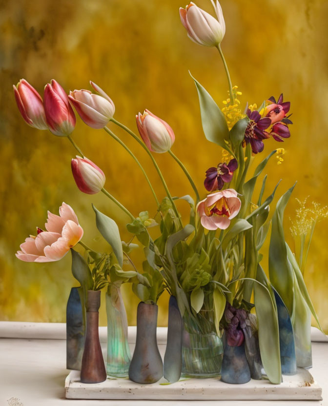
[{"label": "slender rust-brown bottle vase with a long neck", "polygon": [[100,290],[88,290],[86,301],[86,334],[81,366],[81,382],[98,384],[107,378],[99,341]]}]

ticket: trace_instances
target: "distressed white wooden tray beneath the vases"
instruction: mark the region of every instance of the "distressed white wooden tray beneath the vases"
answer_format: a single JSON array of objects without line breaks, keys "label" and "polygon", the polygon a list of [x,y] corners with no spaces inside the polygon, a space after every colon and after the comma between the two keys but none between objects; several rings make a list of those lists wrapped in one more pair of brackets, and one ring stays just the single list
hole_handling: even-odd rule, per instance
[{"label": "distressed white wooden tray beneath the vases", "polygon": [[82,384],[80,371],[71,371],[65,381],[67,399],[112,400],[322,400],[322,388],[307,369],[298,368],[293,376],[283,375],[280,385],[267,380],[250,380],[243,385],[229,385],[219,378],[187,379],[170,385],[141,385],[129,379],[107,379],[100,384]]}]

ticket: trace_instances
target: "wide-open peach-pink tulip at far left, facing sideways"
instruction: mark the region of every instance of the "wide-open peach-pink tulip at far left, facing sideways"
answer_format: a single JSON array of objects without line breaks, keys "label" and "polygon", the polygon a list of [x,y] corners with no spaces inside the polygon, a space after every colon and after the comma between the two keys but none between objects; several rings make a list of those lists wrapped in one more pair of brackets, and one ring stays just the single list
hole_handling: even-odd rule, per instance
[{"label": "wide-open peach-pink tulip at far left, facing sideways", "polygon": [[25,262],[53,262],[63,256],[82,239],[83,229],[71,206],[62,203],[60,216],[48,211],[43,231],[38,228],[36,237],[27,237],[16,257]]}]

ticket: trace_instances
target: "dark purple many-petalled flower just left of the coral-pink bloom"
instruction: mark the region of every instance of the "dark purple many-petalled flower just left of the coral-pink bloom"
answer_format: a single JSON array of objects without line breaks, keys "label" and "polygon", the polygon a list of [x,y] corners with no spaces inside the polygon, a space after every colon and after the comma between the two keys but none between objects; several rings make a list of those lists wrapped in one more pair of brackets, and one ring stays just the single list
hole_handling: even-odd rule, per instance
[{"label": "dark purple many-petalled flower just left of the coral-pink bloom", "polygon": [[257,154],[263,151],[264,143],[262,140],[269,138],[269,134],[264,130],[271,125],[271,119],[268,117],[261,119],[261,115],[257,110],[250,111],[249,108],[246,114],[249,122],[245,130],[244,141],[246,144],[250,142],[253,154]]}]

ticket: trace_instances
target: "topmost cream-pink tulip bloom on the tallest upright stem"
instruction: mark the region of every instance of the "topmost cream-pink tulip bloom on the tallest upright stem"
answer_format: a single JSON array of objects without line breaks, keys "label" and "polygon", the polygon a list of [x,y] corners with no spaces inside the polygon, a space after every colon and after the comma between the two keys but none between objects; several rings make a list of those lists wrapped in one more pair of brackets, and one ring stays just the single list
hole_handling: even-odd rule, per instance
[{"label": "topmost cream-pink tulip bloom on the tallest upright stem", "polygon": [[206,13],[195,3],[190,2],[186,8],[180,7],[180,18],[187,30],[190,40],[199,45],[218,46],[225,36],[225,19],[218,0],[212,1],[218,20]]}]

